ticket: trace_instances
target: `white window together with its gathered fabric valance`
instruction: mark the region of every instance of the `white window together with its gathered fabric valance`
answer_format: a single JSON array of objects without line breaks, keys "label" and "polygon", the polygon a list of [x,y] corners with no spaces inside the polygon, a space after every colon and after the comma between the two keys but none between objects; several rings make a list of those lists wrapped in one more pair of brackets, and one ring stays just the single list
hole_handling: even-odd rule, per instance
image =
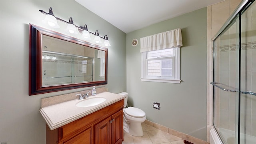
[{"label": "white window together with its gathered fabric valance", "polygon": [[140,38],[141,80],[180,83],[181,29]]}]

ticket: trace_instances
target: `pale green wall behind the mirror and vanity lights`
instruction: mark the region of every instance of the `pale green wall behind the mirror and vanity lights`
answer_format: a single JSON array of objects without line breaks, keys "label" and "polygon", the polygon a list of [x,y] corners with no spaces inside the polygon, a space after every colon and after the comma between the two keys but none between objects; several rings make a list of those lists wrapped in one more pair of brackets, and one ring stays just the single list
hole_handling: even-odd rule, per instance
[{"label": "pale green wall behind the mirror and vanity lights", "polygon": [[[54,15],[91,32],[108,35],[109,92],[126,91],[126,34],[90,12],[75,0],[0,0],[0,142],[45,144],[45,122],[39,109],[41,98],[92,89],[80,88],[28,96],[28,24],[45,27],[42,20],[53,8]],[[66,24],[59,22],[64,33]],[[48,28],[48,27],[47,27]],[[48,28],[51,29],[51,28]],[[76,36],[78,37],[78,36]],[[97,86],[100,87],[100,86]]]}]

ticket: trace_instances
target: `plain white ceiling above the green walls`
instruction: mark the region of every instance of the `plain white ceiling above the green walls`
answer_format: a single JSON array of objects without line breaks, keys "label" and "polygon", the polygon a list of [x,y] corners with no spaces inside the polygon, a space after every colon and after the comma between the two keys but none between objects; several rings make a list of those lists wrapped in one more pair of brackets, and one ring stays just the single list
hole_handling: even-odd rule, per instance
[{"label": "plain white ceiling above the green walls", "polygon": [[75,0],[125,33],[224,0]]}]

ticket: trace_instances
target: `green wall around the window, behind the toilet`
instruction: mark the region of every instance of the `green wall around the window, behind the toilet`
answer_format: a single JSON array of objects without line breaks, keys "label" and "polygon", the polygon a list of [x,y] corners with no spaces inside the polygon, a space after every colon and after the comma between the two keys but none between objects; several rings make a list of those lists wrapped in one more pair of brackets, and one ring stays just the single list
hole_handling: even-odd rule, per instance
[{"label": "green wall around the window, behind the toilet", "polygon": [[[206,20],[207,9],[178,16],[130,32],[126,37],[128,105],[146,112],[146,117],[179,132],[207,141],[206,133]],[[180,84],[142,82],[140,43],[132,40],[182,29]],[[161,109],[152,108],[160,102]]]}]

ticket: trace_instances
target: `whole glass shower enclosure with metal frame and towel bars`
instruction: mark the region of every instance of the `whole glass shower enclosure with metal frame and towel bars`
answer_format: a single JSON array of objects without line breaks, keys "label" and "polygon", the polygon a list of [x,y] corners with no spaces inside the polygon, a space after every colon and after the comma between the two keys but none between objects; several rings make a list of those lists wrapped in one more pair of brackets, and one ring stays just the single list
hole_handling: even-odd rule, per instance
[{"label": "whole glass shower enclosure with metal frame and towel bars", "polygon": [[256,144],[256,4],[243,0],[214,42],[214,128],[223,144]]}]

